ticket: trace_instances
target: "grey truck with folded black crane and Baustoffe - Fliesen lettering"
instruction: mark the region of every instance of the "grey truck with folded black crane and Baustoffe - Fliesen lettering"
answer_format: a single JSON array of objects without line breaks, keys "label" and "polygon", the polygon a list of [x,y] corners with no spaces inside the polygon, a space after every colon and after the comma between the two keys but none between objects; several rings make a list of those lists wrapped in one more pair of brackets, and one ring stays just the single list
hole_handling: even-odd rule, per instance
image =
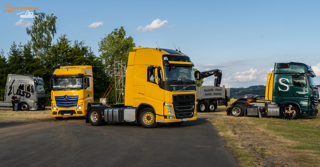
[{"label": "grey truck with folded black crane and Baustoffe - Fliesen lettering", "polygon": [[227,106],[227,102],[230,101],[228,95],[230,94],[230,88],[221,87],[222,72],[219,69],[213,69],[209,71],[194,72],[196,79],[201,79],[211,75],[215,76],[214,86],[196,87],[196,100],[198,112],[214,112],[218,105]]}]

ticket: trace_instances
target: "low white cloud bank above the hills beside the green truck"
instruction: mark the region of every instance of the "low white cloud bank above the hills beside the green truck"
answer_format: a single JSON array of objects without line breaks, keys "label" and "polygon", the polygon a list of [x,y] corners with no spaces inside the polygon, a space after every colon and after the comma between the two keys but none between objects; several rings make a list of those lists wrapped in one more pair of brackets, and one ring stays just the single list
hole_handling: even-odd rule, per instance
[{"label": "low white cloud bank above the hills beside the green truck", "polygon": [[[252,69],[243,72],[235,72],[232,74],[227,73],[222,80],[224,82],[250,82],[250,81],[266,81],[266,78],[268,76],[268,73],[271,72],[272,69],[266,70],[260,70]],[[223,76],[223,75],[222,75]],[[213,80],[210,81],[210,83],[213,82]]]}]

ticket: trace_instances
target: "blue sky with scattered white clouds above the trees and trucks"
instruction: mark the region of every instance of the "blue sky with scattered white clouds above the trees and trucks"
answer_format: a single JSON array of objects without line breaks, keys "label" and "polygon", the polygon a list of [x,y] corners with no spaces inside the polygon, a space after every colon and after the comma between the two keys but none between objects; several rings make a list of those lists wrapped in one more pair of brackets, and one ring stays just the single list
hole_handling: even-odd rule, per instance
[{"label": "blue sky with scattered white clouds above the trees and trucks", "polygon": [[[157,42],[174,49],[174,43],[200,71],[221,69],[226,87],[265,85],[274,62],[289,61],[311,65],[320,84],[319,0],[8,0],[0,6],[6,3],[53,13],[53,41],[61,34],[72,42],[84,40],[96,56],[100,38],[123,26],[136,46],[157,47]],[[0,12],[5,55],[13,41],[30,39],[25,27],[33,18],[21,19],[17,13],[23,11]]]}]

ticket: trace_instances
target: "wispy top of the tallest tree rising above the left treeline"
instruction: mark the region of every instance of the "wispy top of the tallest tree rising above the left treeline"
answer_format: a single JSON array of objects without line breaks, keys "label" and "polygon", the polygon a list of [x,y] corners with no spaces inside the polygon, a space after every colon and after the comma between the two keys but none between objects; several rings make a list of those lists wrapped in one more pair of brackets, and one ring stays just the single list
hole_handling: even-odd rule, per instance
[{"label": "wispy top of the tallest tree rising above the left treeline", "polygon": [[35,10],[33,13],[38,16],[34,18],[30,29],[26,27],[26,34],[31,36],[32,49],[34,55],[37,56],[39,51],[47,51],[51,46],[51,40],[56,33],[56,16],[53,14],[45,15],[42,12],[37,13]]}]

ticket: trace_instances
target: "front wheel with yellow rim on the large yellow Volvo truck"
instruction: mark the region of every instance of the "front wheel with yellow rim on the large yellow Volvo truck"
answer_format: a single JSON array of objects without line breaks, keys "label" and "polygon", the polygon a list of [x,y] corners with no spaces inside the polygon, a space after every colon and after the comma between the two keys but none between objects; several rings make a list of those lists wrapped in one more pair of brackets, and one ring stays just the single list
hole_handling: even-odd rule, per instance
[{"label": "front wheel with yellow rim on the large yellow Volvo truck", "polygon": [[142,109],[139,120],[140,124],[145,128],[153,128],[159,124],[155,121],[155,114],[150,108]]}]

